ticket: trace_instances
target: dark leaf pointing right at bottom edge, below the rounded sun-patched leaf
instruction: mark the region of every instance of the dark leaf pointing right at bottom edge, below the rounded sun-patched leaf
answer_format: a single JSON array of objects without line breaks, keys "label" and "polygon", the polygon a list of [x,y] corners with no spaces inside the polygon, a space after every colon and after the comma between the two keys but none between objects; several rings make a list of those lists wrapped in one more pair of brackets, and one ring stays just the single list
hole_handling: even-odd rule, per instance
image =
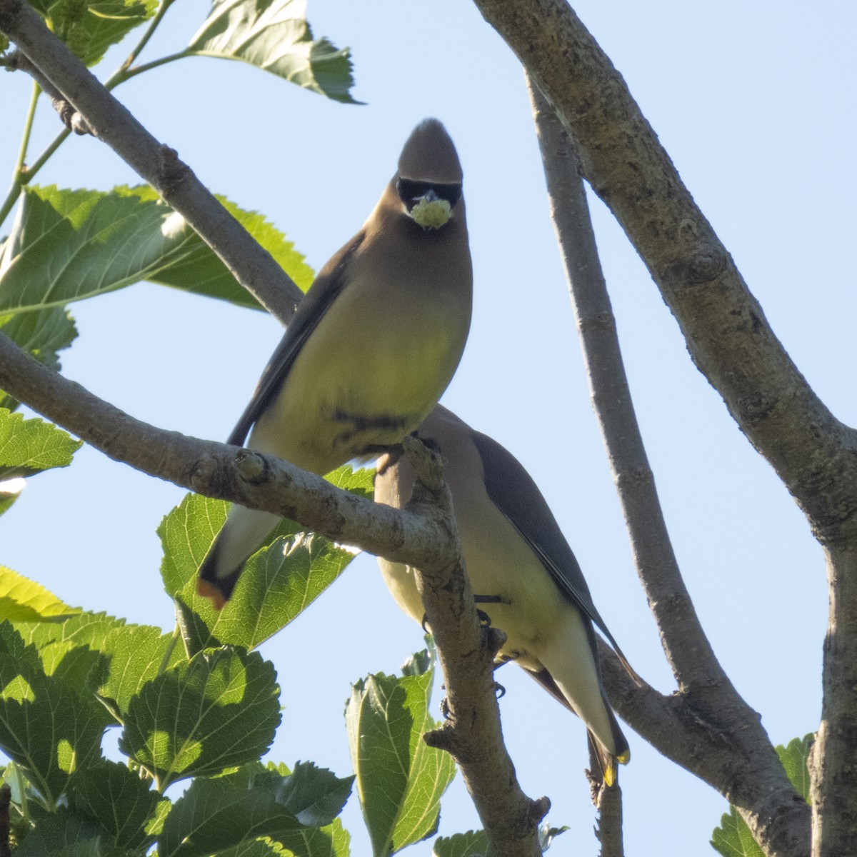
[{"label": "dark leaf pointing right at bottom edge, below the rounded sun-patched leaf", "polygon": [[207,857],[258,836],[303,825],[266,788],[235,788],[197,779],[179,798],[158,837],[159,857]]}]

